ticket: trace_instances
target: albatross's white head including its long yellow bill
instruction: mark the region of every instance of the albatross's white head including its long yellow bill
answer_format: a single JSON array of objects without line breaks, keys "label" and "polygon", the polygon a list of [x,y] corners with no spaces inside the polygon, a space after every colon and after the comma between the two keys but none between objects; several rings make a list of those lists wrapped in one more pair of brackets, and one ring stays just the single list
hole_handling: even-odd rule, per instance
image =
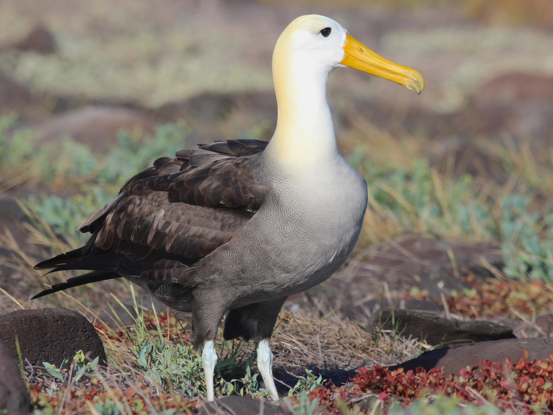
[{"label": "albatross's white head including its long yellow bill", "polygon": [[348,66],[397,82],[417,94],[424,89],[424,79],[418,71],[384,59],[340,24],[317,14],[298,17],[280,35],[273,55],[274,70],[290,59],[296,68],[307,65],[328,74]]}]

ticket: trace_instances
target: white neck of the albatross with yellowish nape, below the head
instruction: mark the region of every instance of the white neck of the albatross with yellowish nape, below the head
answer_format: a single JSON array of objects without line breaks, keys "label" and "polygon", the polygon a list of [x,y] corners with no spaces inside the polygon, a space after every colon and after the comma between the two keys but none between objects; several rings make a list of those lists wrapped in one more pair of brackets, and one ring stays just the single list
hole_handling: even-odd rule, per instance
[{"label": "white neck of the albatross with yellowish nape, below the head", "polygon": [[325,163],[338,154],[326,101],[329,70],[282,49],[273,56],[278,122],[267,151],[283,164]]}]

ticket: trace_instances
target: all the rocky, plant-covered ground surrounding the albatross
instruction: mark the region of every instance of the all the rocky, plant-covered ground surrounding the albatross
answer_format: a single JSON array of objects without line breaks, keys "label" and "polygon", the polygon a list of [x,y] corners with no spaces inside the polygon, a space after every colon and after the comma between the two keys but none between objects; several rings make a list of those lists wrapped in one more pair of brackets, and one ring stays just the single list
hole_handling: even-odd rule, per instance
[{"label": "all the rocky, plant-covered ground surrounding the albatross", "polygon": [[[0,408],[553,411],[553,18],[539,0],[530,18],[509,6],[521,21],[491,0],[466,2],[476,14],[445,1],[87,3],[0,4],[0,370],[13,373],[0,380]],[[156,157],[269,139],[271,51],[311,12],[418,69],[426,89],[417,97],[333,74],[338,145],[369,185],[358,246],[285,304],[273,343],[286,402],[264,400],[252,345],[221,340],[224,397],[202,406],[186,313],[119,281],[31,302],[68,276],[41,278],[32,266],[82,243],[72,233],[80,221]],[[79,350],[88,361],[74,359]]]}]

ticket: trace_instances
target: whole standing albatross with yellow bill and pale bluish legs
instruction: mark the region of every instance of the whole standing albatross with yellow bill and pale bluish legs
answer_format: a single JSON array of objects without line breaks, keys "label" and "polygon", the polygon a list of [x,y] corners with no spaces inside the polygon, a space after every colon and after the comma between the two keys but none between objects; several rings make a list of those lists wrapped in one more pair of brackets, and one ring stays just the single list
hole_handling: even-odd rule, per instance
[{"label": "whole standing albatross with yellow bill and pale bluish legs", "polygon": [[213,400],[214,340],[258,342],[259,372],[274,400],[269,339],[286,298],[325,281],[361,231],[367,183],[342,158],[328,103],[330,72],[349,66],[418,94],[419,72],[382,58],[320,15],[295,19],[273,54],[278,122],[269,143],[238,139],[155,160],[79,227],[85,246],[36,269],[86,269],[35,295],[124,277],[192,313]]}]

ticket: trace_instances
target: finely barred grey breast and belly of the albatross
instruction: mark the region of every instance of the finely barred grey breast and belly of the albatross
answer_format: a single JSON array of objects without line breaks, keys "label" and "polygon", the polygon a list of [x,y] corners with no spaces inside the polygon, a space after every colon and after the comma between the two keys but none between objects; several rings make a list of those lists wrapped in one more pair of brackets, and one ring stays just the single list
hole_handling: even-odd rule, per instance
[{"label": "finely barred grey breast and belly of the albatross", "polygon": [[361,231],[367,185],[345,161],[271,180],[257,214],[199,271],[199,279],[226,290],[231,307],[319,284],[346,260]]}]

